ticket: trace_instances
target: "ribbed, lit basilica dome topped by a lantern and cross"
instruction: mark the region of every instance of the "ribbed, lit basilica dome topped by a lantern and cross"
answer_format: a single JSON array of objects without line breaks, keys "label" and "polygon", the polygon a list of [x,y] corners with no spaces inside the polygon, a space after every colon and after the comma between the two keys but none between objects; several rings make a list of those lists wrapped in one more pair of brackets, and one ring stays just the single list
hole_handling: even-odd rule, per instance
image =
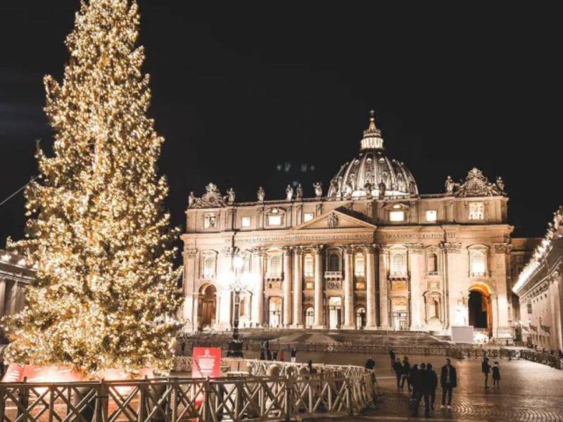
[{"label": "ribbed, lit basilica dome topped by a lantern and cross", "polygon": [[375,116],[369,118],[364,131],[360,154],[342,165],[331,180],[328,197],[393,198],[418,196],[418,187],[412,173],[403,162],[389,158],[384,153],[381,130],[375,126]]}]

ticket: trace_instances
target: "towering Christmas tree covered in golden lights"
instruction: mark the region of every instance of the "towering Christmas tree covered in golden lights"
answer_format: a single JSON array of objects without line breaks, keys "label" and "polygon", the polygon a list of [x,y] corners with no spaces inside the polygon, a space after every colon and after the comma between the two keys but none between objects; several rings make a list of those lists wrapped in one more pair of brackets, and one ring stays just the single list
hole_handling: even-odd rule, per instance
[{"label": "towering Christmas tree covered in golden lights", "polygon": [[82,2],[62,84],[47,76],[53,156],[38,148],[26,238],[8,247],[37,269],[25,309],[3,321],[8,362],[167,371],[181,297],[177,229],[163,209],[163,138],[146,117],[135,1]]}]

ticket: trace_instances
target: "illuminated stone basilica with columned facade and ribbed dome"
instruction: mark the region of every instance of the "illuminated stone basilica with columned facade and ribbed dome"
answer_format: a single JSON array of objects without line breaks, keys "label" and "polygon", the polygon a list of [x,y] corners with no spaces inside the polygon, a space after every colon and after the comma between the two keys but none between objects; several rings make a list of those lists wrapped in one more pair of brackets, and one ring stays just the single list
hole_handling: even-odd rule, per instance
[{"label": "illuminated stone basilica with columned facade and ribbed dome", "polygon": [[448,176],[440,193],[419,193],[403,162],[386,155],[372,116],[358,155],[326,192],[312,187],[304,198],[289,185],[281,200],[260,187],[253,202],[215,184],[190,194],[186,330],[229,329],[236,312],[246,327],[448,334],[472,325],[512,342],[526,242],[511,237],[500,177],[474,168],[459,182]]}]

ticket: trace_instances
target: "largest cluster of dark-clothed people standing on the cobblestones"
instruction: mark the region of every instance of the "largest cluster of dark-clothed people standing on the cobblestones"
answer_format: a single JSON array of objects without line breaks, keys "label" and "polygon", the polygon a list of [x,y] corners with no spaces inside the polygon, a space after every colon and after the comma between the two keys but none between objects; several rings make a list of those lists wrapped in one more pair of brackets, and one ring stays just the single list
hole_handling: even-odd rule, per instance
[{"label": "largest cluster of dark-clothed people standing on the cobblestones", "polygon": [[[389,352],[391,366],[396,375],[397,390],[404,390],[405,384],[411,393],[410,405],[412,416],[418,416],[420,402],[424,399],[424,416],[429,417],[434,410],[436,401],[436,388],[438,388],[438,375],[432,364],[410,364],[409,358],[404,357],[403,362],[396,359],[395,351]],[[440,385],[442,388],[441,409],[452,408],[453,389],[457,387],[457,371],[450,359],[445,359],[445,365],[440,372]]]}]

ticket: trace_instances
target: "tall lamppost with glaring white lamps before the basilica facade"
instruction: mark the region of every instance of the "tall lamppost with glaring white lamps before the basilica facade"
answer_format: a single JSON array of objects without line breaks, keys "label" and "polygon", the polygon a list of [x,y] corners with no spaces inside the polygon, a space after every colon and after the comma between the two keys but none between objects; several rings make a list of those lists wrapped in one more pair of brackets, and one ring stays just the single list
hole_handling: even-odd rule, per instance
[{"label": "tall lamppost with glaring white lamps before the basilica facade", "polygon": [[244,260],[237,256],[232,259],[232,268],[229,271],[220,273],[217,277],[219,286],[223,290],[234,293],[234,315],[232,317],[233,338],[229,340],[227,347],[227,357],[243,357],[242,340],[239,340],[239,308],[241,292],[252,291],[258,274],[251,271],[244,271]]}]

